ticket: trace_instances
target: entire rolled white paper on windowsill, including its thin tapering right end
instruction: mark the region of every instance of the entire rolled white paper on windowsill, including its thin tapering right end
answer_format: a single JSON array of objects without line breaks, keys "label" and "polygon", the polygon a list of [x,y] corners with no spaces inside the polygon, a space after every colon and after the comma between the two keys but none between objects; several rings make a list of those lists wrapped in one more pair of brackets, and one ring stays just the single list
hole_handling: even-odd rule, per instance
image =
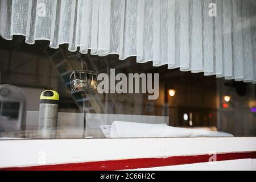
[{"label": "entire rolled white paper on windowsill, including its thin tapering right end", "polygon": [[148,138],[148,137],[234,137],[220,131],[184,129],[167,125],[114,121],[110,138]]}]

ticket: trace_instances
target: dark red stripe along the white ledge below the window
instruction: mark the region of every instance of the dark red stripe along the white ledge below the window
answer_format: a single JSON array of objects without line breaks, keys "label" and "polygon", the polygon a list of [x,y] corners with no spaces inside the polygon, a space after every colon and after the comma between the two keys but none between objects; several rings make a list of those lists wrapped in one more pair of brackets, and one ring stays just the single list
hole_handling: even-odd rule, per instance
[{"label": "dark red stripe along the white ledge below the window", "polygon": [[[170,156],[166,158],[139,158],[139,159],[122,159],[106,160],[98,162],[82,162],[68,164],[52,164],[45,166],[30,167],[10,167],[0,168],[0,171],[101,171],[101,170],[122,170],[138,169],[163,166],[176,166],[181,164],[194,164],[209,162],[212,155],[187,155],[187,156]],[[217,161],[235,160],[235,159],[256,159],[256,151],[251,152],[232,152],[216,155]]]}]

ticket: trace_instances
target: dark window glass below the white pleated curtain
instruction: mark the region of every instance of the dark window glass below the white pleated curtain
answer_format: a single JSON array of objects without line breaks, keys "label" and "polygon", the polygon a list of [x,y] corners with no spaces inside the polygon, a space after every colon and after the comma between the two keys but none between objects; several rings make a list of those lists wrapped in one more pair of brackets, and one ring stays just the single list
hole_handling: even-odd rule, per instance
[{"label": "dark window glass below the white pleated curtain", "polygon": [[[81,55],[67,45],[51,49],[43,40],[28,45],[23,36],[0,39],[0,55],[3,139],[256,136],[251,83],[152,67],[135,57]],[[165,135],[167,126],[175,130]]]}]

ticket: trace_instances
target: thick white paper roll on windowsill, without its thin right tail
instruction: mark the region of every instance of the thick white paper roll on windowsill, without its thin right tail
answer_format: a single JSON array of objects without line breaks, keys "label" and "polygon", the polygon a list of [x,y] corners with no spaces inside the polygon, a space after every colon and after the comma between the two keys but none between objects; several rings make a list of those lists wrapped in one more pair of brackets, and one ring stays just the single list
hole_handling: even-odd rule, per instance
[{"label": "thick white paper roll on windowsill, without its thin right tail", "polygon": [[189,135],[191,135],[189,129],[123,121],[114,121],[110,132],[110,138],[189,137]]}]

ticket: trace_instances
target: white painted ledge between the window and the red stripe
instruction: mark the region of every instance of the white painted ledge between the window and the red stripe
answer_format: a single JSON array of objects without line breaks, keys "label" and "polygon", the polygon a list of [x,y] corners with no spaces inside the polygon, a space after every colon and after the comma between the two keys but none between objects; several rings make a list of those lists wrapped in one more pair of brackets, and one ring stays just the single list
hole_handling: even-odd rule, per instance
[{"label": "white painted ledge between the window and the red stripe", "polygon": [[256,151],[256,138],[1,140],[0,168]]}]

